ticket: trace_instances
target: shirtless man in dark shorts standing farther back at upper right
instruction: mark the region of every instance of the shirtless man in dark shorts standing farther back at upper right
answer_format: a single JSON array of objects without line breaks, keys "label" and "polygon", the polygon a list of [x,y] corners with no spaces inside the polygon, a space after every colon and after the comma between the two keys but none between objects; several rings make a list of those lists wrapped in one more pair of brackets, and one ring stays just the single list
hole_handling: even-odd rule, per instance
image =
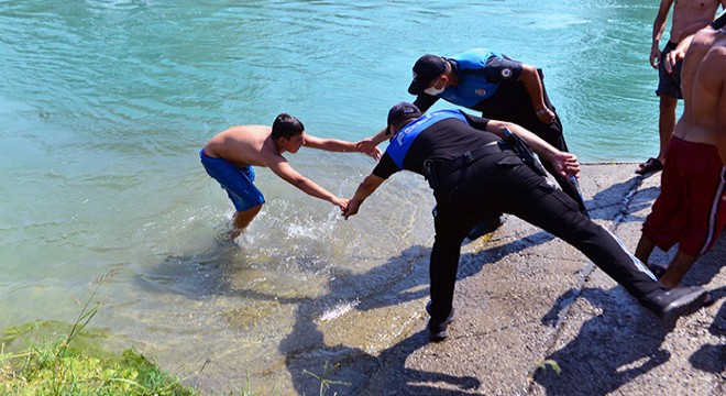
[{"label": "shirtless man in dark shorts standing farther back at upper right", "polygon": [[[726,0],[661,0],[658,14],[653,21],[653,34],[650,48],[650,65],[658,69],[658,90],[660,97],[660,116],[658,132],[660,134],[660,152],[656,158],[649,158],[640,164],[637,174],[645,175],[663,168],[666,162],[666,148],[673,134],[675,124],[675,107],[681,94],[681,64],[676,64],[672,73],[664,68],[664,59],[669,52],[673,51],[678,43],[684,37],[694,34],[705,28],[714,20],[718,4],[726,9]],[[660,51],[660,38],[666,30],[666,20],[673,6],[673,20],[668,44]]]}]

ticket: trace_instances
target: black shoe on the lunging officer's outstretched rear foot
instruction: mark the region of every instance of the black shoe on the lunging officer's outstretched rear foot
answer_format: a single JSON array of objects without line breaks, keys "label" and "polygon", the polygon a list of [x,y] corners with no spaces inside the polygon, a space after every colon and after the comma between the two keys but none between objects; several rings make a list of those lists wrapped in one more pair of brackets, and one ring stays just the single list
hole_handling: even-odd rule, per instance
[{"label": "black shoe on the lunging officer's outstretched rear foot", "polygon": [[668,328],[673,328],[678,318],[697,311],[707,297],[708,292],[702,287],[676,287],[661,292],[651,301],[660,320]]}]

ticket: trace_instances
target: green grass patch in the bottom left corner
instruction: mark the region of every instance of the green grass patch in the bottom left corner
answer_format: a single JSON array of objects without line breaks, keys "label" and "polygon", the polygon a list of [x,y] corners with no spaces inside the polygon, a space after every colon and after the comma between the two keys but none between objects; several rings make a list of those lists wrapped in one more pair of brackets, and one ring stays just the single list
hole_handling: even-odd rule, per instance
[{"label": "green grass patch in the bottom left corner", "polygon": [[[73,324],[37,321],[0,334],[1,395],[197,394],[133,350],[112,354],[87,342],[94,334],[86,328],[99,309],[96,294],[111,276],[96,279]],[[6,352],[8,343],[19,340],[24,342],[24,350]]]}]

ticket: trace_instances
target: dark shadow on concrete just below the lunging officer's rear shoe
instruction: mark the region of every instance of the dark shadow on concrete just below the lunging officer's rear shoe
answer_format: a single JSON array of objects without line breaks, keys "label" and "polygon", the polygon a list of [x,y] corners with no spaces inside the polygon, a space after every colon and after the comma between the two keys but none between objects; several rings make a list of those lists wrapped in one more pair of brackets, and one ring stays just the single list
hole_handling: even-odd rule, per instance
[{"label": "dark shadow on concrete just below the lunging officer's rear shoe", "polygon": [[[563,294],[542,322],[557,323],[560,310],[570,307],[574,294],[576,290]],[[603,314],[584,322],[571,342],[546,358],[557,363],[560,374],[547,365],[535,373],[534,381],[544,387],[548,395],[604,395],[617,392],[624,384],[670,359],[670,352],[660,348],[667,331],[654,323],[658,319],[638,314],[635,308],[639,307],[635,300],[632,310],[618,306],[622,297],[614,294],[617,292],[586,288],[576,296]]]}]

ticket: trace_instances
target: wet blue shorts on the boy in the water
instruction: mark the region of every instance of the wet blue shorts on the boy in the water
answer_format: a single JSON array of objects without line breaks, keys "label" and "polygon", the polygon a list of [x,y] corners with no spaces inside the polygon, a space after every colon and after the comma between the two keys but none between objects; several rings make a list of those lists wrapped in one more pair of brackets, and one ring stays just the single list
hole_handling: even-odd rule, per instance
[{"label": "wet blue shorts on the boy in the water", "polygon": [[227,191],[234,204],[234,209],[244,211],[265,202],[262,191],[254,186],[254,169],[252,166],[239,167],[222,158],[212,158],[202,148],[199,152],[201,165],[207,174]]}]

